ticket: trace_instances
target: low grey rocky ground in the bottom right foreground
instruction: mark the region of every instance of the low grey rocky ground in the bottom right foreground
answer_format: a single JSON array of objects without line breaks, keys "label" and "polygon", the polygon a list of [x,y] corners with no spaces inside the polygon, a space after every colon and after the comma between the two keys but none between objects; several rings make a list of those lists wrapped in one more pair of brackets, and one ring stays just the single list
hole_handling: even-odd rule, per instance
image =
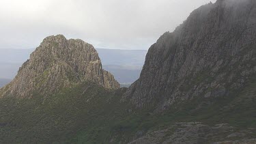
[{"label": "low grey rocky ground in the bottom right foreground", "polygon": [[256,143],[253,139],[255,128],[234,128],[229,124],[208,126],[199,122],[180,122],[163,130],[147,132],[145,136],[135,139],[129,144],[143,143]]}]

